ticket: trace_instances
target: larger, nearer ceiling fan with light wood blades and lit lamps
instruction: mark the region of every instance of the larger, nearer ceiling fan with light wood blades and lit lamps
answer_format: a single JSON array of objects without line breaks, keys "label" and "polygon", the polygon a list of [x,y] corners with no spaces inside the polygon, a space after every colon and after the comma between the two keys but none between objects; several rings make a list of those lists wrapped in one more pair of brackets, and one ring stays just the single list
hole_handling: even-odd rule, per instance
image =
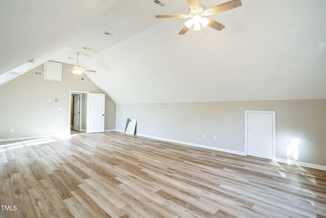
[{"label": "larger, nearer ceiling fan with light wood blades and lit lamps", "polygon": [[221,31],[224,25],[216,20],[210,19],[206,16],[218,14],[224,11],[231,10],[241,6],[241,0],[233,0],[230,2],[216,5],[210,9],[205,10],[205,6],[199,5],[198,0],[187,0],[189,5],[189,14],[170,14],[170,15],[155,15],[156,18],[191,18],[185,21],[185,26],[180,31],[179,35],[185,34],[194,26],[194,30],[198,31],[201,27],[210,27]]}]

